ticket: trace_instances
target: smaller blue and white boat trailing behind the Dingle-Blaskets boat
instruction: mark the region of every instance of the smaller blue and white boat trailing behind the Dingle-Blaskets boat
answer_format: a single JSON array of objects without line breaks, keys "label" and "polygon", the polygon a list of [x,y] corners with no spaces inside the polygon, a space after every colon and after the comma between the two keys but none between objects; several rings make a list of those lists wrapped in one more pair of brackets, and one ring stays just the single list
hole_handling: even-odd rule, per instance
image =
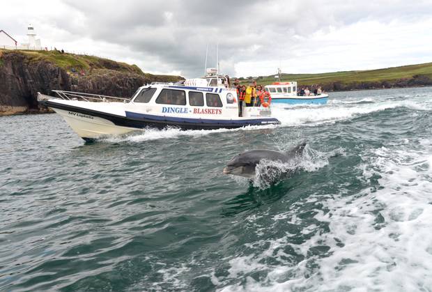
[{"label": "smaller blue and white boat trailing behind the Dingle-Blaskets boat", "polygon": [[315,104],[325,105],[328,94],[297,95],[297,82],[275,82],[265,86],[265,91],[270,93],[272,103],[286,105]]}]

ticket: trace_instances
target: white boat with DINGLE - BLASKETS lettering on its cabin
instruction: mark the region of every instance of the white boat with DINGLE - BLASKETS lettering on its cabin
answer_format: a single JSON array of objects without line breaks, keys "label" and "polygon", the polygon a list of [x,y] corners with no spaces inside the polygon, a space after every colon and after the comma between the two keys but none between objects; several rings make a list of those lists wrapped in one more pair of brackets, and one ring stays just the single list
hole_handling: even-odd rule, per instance
[{"label": "white boat with DINGLE - BLASKETS lettering on its cabin", "polygon": [[223,78],[154,83],[141,86],[130,99],[54,91],[56,98],[38,93],[38,101],[86,141],[144,128],[211,130],[280,123],[270,117],[270,107],[244,107],[239,117],[236,89],[226,89]]}]

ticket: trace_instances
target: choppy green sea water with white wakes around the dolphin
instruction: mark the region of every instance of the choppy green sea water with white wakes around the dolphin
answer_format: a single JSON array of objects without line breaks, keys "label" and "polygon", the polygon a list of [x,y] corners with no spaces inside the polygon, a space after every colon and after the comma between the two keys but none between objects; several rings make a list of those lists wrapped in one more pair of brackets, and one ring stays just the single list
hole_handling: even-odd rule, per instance
[{"label": "choppy green sea water with white wakes around the dolphin", "polygon": [[[432,291],[432,88],[273,112],[94,144],[0,117],[0,291]],[[301,141],[276,184],[222,174]]]}]

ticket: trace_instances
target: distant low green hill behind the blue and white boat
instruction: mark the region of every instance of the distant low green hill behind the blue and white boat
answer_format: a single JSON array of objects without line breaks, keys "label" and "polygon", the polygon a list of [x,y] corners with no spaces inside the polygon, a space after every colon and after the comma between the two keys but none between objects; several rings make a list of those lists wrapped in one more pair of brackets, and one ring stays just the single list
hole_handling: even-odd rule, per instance
[{"label": "distant low green hill behind the blue and white boat", "polygon": [[[275,75],[256,77],[259,84],[275,82]],[[432,85],[432,63],[378,70],[355,70],[320,74],[281,74],[281,81],[297,81],[299,86],[320,84],[326,90],[349,90]],[[242,83],[247,83],[243,79]]]}]

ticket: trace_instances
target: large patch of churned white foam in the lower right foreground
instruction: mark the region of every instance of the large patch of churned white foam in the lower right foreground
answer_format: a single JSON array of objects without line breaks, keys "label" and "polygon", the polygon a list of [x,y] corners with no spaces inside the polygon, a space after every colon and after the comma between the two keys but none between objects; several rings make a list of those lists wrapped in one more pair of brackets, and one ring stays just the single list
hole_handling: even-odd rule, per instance
[{"label": "large patch of churned white foam in the lower right foreground", "polygon": [[[291,235],[262,240],[255,244],[266,243],[265,251],[231,259],[229,277],[266,271],[265,278],[259,282],[249,278],[222,291],[427,291],[432,287],[432,148],[425,139],[422,145],[426,147],[421,150],[401,146],[364,153],[363,179],[380,176],[384,187],[319,199],[330,211],[316,210],[315,219],[328,222],[330,232],[316,232],[293,248],[307,257],[311,247],[326,245],[330,247],[327,256],[309,256],[291,266],[278,254],[278,247],[288,245]],[[273,220],[300,224],[297,210],[292,206]],[[303,232],[313,233],[312,229],[314,225]],[[286,264],[262,266],[268,256]],[[315,270],[307,268],[310,261],[316,264]]]}]

